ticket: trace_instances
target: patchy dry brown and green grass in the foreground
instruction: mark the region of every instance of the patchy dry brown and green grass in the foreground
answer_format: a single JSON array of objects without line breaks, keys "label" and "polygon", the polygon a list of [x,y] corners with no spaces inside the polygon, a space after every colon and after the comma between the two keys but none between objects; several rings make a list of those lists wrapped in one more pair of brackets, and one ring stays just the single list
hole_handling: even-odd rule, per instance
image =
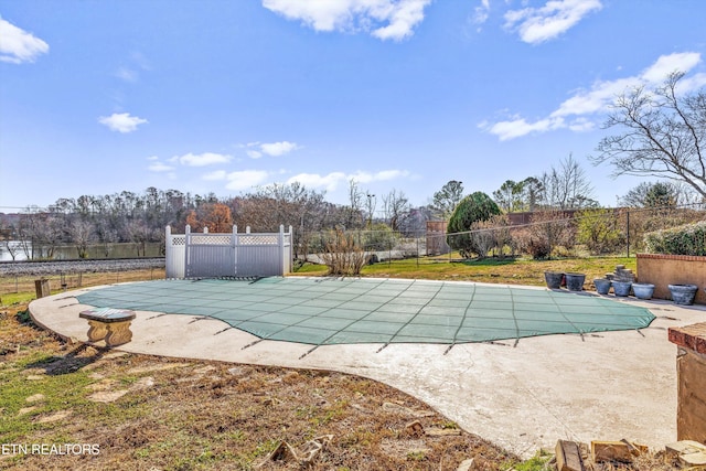
[{"label": "patchy dry brown and green grass in the foreground", "polygon": [[[114,356],[64,344],[23,323],[23,308],[6,309],[0,320],[2,441],[95,443],[99,454],[6,454],[0,469],[247,470],[264,462],[280,440],[297,447],[329,433],[333,440],[310,469],[454,470],[464,459],[482,457],[485,469],[496,470],[515,461],[461,430],[445,437],[407,432],[405,426],[413,420],[427,429],[456,426],[371,379]],[[120,390],[128,393],[115,402],[95,400]],[[43,397],[26,400],[36,394]],[[261,469],[299,465],[272,461]]]}]

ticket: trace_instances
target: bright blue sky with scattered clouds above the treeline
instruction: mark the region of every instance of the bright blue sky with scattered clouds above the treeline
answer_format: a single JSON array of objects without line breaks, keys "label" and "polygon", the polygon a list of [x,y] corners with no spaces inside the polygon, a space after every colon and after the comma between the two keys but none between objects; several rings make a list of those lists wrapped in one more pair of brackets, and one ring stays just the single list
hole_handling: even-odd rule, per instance
[{"label": "bright blue sky with scattered clouds above the treeline", "polygon": [[[700,0],[0,0],[0,211],[349,181],[426,204],[580,162],[611,100],[706,85]],[[3,210],[4,207],[4,210]]]}]

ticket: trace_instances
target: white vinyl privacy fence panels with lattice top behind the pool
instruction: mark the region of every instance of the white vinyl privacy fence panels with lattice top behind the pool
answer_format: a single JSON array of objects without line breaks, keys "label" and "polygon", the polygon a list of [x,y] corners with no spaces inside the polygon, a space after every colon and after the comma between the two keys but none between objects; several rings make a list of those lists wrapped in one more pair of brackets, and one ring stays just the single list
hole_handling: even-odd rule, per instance
[{"label": "white vinyl privacy fence panels with lattice top behind the pool", "polygon": [[279,233],[172,234],[167,226],[167,278],[269,277],[291,271],[292,228]]}]

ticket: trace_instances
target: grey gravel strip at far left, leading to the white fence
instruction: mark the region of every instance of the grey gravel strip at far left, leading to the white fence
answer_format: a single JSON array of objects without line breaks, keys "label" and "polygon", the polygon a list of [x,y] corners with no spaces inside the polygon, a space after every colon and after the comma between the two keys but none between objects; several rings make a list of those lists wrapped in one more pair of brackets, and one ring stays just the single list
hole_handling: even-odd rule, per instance
[{"label": "grey gravel strip at far left, leading to the white fence", "polygon": [[164,268],[164,258],[120,258],[104,260],[2,261],[0,277],[31,277],[100,271]]}]

